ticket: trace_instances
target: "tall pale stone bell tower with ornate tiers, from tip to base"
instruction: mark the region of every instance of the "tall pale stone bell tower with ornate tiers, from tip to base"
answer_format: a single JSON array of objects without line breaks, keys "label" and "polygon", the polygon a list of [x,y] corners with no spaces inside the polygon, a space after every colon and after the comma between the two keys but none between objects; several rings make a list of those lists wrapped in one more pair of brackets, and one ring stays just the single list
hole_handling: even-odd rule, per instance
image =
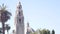
[{"label": "tall pale stone bell tower with ornate tiers, from tip to base", "polygon": [[15,15],[15,30],[16,34],[24,34],[24,16],[22,5],[19,2],[16,8],[16,15]]}]

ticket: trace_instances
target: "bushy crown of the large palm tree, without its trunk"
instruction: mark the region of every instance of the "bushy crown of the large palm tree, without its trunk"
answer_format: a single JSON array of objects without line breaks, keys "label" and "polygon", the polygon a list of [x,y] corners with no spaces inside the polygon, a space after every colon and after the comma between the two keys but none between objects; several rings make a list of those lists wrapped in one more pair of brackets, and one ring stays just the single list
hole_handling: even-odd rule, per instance
[{"label": "bushy crown of the large palm tree, without its trunk", "polygon": [[10,16],[12,14],[6,10],[6,6],[2,4],[1,10],[0,10],[0,22],[6,22],[8,19],[10,19]]}]

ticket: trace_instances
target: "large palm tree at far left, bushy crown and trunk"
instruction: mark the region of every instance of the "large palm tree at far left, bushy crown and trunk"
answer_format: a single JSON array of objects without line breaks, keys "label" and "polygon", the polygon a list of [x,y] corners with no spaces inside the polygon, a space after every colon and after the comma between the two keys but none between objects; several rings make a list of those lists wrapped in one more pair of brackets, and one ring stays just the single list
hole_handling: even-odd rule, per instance
[{"label": "large palm tree at far left, bushy crown and trunk", "polygon": [[2,4],[0,8],[0,22],[2,23],[3,34],[5,34],[5,22],[10,19],[11,13],[6,10],[6,6]]}]

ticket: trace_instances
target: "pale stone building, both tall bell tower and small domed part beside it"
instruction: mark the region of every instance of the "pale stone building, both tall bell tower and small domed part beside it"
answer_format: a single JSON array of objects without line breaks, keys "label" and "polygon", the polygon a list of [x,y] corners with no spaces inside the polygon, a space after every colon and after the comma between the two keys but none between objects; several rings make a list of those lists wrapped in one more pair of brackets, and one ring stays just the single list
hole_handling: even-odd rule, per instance
[{"label": "pale stone building, both tall bell tower and small domed part beside it", "polygon": [[[16,13],[15,13],[15,30],[13,30],[13,34],[25,34],[25,28],[24,28],[24,15],[22,10],[22,5],[19,2],[17,4]],[[27,23],[27,32],[26,34],[30,34],[31,32],[35,32],[30,26],[29,23]]]}]

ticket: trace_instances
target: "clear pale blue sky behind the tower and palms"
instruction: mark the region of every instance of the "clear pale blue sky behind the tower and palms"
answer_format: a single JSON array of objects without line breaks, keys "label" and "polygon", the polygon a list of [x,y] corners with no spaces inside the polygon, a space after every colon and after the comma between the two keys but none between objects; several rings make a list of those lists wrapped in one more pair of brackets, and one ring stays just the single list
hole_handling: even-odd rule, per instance
[{"label": "clear pale blue sky behind the tower and palms", "polygon": [[[35,30],[54,29],[56,34],[60,34],[60,0],[20,0],[20,2],[23,8],[25,27],[29,22]],[[12,33],[18,0],[0,0],[0,5],[3,3],[12,13],[11,19],[7,21],[11,26],[9,33]]]}]

